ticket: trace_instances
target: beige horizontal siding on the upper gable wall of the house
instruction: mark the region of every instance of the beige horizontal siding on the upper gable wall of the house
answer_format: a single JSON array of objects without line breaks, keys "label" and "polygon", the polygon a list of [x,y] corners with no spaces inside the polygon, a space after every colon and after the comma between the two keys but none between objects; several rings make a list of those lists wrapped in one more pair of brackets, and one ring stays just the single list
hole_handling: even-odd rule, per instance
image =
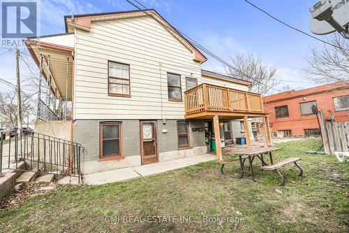
[{"label": "beige horizontal siding on the upper gable wall of the house", "polygon": [[[182,92],[186,76],[201,83],[193,53],[151,17],[92,22],[75,46],[77,120],[184,119],[184,101],[168,101],[167,72],[181,75]],[[131,98],[107,95],[108,60],[130,65]]]}]

